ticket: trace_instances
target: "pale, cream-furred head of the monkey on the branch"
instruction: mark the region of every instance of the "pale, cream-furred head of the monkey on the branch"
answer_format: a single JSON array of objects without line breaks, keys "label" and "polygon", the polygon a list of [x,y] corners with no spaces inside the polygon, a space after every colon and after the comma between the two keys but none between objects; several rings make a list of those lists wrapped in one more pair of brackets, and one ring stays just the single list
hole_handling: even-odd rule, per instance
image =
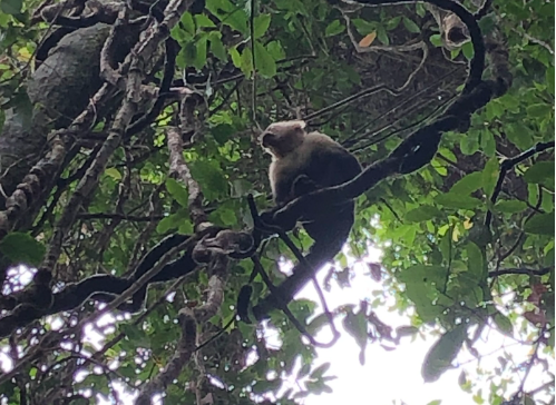
[{"label": "pale, cream-furred head of the monkey on the branch", "polygon": [[293,120],[274,122],[259,138],[262,147],[276,158],[283,158],[303,144],[305,121]]}]

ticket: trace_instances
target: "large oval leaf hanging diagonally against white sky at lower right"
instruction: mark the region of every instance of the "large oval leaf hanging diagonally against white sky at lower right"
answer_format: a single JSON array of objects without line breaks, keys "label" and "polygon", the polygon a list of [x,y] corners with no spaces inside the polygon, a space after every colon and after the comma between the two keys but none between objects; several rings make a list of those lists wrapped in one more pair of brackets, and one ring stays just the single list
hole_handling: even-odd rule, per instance
[{"label": "large oval leaf hanging diagonally against white sky at lower right", "polygon": [[445,372],[451,368],[451,362],[461,349],[466,337],[466,325],[458,325],[440,336],[425,357],[421,375],[426,383],[437,381]]}]

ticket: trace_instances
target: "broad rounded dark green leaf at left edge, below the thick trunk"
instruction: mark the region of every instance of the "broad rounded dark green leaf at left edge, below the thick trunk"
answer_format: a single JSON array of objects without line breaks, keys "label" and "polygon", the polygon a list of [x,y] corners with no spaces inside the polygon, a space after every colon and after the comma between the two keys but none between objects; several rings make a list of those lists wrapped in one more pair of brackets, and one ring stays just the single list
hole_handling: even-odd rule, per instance
[{"label": "broad rounded dark green leaf at left edge, below the thick trunk", "polygon": [[0,240],[0,253],[12,263],[38,266],[42,261],[46,247],[27,233],[10,233]]}]

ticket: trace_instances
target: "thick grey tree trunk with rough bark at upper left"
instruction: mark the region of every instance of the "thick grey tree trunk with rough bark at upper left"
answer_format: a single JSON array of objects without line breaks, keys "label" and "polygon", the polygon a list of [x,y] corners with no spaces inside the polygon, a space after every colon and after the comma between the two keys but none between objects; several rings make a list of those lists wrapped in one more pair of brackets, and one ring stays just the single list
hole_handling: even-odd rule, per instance
[{"label": "thick grey tree trunk with rough bark at upper left", "polygon": [[[81,112],[101,85],[100,50],[110,26],[97,23],[64,37],[27,82],[33,105],[30,120],[14,110],[7,111],[0,134],[0,162],[3,192],[11,195],[35,165],[43,149],[49,129],[62,128]],[[118,38],[116,58],[123,60],[137,33]],[[4,208],[0,199],[0,209]]]}]

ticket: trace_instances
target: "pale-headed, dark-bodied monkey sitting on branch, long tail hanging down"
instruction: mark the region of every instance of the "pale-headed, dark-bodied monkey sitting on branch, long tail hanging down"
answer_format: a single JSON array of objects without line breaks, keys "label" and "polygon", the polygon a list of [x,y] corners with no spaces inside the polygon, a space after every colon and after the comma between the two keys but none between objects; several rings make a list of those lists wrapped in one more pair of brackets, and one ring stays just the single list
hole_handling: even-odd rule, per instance
[{"label": "pale-headed, dark-bodied monkey sitting on branch, long tail hanging down", "polygon": [[[259,138],[262,148],[272,156],[269,180],[276,205],[261,213],[259,219],[263,225],[274,225],[274,214],[293,199],[348,182],[362,171],[358,159],[344,147],[324,134],[306,132],[305,127],[303,120],[274,122]],[[303,214],[300,221],[314,244],[294,267],[293,274],[253,306],[256,320],[267,318],[273,308],[286,313],[286,305],[295,293],[342,249],[354,223],[354,208],[353,200],[334,206],[326,206],[324,201],[313,213]],[[241,303],[238,300],[238,307],[243,304],[242,314],[247,310],[245,302],[248,302],[251,290],[243,293]]]}]

